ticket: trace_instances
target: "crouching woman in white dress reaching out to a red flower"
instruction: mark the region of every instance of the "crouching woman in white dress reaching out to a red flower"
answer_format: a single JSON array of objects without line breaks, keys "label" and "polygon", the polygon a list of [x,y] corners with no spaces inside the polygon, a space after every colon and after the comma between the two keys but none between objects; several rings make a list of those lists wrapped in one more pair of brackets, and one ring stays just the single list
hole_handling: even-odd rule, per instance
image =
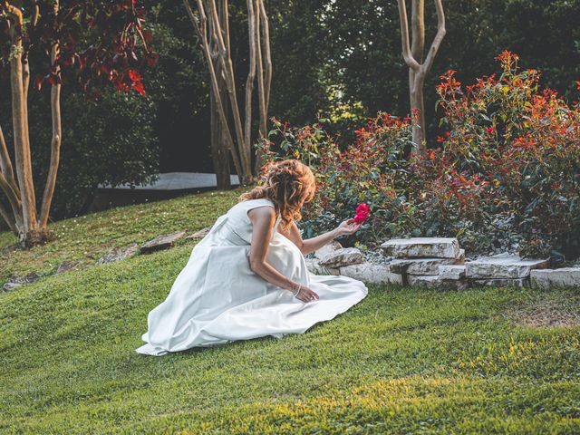
[{"label": "crouching woman in white dress reaching out to a red flower", "polygon": [[304,333],[367,295],[346,276],[312,275],[304,255],[359,225],[344,221],[303,240],[300,208],[314,198],[314,175],[298,160],[276,163],[262,186],[218,218],[179,273],[167,299],[148,317],[147,344],[160,356],[265,335]]}]

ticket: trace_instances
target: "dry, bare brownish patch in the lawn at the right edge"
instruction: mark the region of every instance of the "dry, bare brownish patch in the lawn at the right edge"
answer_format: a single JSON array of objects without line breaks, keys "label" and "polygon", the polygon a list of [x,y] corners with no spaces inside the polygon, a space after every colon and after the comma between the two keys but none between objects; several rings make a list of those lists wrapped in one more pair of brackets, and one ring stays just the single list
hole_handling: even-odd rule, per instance
[{"label": "dry, bare brownish patch in the lawn at the right edge", "polygon": [[[576,298],[574,298],[576,299]],[[545,299],[511,307],[503,316],[528,328],[580,325],[580,301]]]}]

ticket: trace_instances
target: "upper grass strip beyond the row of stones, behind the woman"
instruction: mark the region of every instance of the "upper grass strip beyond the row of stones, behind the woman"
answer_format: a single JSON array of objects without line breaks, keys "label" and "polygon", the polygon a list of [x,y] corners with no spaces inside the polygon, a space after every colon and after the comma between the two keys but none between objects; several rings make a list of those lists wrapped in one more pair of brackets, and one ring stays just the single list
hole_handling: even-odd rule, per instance
[{"label": "upper grass strip beyond the row of stones, behind the woman", "polygon": [[64,260],[94,264],[111,247],[142,244],[160,234],[208,227],[237,202],[243,191],[189,195],[61,220],[49,226],[56,236],[53,242],[30,250],[10,249],[16,237],[0,232],[0,284],[14,273],[50,274]]}]

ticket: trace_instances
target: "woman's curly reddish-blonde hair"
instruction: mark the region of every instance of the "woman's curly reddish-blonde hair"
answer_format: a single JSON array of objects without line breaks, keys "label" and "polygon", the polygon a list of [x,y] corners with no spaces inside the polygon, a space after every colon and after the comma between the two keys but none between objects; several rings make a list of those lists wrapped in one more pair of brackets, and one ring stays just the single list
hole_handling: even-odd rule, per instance
[{"label": "woman's curly reddish-blonde hair", "polygon": [[314,199],[316,181],[308,166],[299,160],[274,162],[266,171],[261,184],[239,197],[247,199],[266,198],[275,205],[275,211],[282,218],[283,229],[302,218],[300,208],[304,202]]}]

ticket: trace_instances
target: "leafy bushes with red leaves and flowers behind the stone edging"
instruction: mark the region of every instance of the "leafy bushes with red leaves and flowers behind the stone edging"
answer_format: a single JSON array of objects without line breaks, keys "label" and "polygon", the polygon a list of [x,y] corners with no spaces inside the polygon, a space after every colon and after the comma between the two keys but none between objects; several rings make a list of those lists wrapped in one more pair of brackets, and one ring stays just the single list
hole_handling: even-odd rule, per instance
[{"label": "leafy bushes with red leaves and flowers behind the stone edging", "polygon": [[[302,128],[274,121],[261,142],[264,170],[275,160],[308,163],[318,179],[304,236],[370,206],[356,239],[376,247],[393,237],[458,237],[473,254],[508,251],[580,256],[580,106],[541,89],[517,55],[498,56],[496,74],[465,88],[441,77],[437,143],[412,152],[411,118],[379,113],[341,150],[324,120]],[[579,83],[580,86],[580,83]]]}]

